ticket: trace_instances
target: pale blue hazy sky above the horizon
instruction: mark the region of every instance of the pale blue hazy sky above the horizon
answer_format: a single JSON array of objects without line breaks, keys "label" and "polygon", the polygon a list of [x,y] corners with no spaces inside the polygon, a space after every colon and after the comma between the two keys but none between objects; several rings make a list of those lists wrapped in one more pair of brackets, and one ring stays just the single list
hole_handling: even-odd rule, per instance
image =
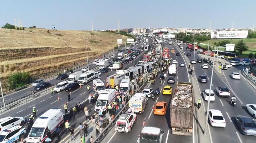
[{"label": "pale blue hazy sky above the horizon", "polygon": [[[91,30],[130,27],[212,29],[253,27],[256,0],[4,0],[0,26],[22,19],[24,27]],[[18,20],[17,20],[18,23]]]}]

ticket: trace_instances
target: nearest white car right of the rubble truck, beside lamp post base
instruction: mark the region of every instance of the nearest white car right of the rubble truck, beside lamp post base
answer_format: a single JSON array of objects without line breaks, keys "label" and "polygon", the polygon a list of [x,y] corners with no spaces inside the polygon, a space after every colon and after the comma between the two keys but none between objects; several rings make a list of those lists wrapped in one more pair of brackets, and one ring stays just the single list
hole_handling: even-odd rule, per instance
[{"label": "nearest white car right of the rubble truck, beside lamp post base", "polygon": [[226,127],[226,120],[219,110],[210,109],[208,119],[211,126]]}]

